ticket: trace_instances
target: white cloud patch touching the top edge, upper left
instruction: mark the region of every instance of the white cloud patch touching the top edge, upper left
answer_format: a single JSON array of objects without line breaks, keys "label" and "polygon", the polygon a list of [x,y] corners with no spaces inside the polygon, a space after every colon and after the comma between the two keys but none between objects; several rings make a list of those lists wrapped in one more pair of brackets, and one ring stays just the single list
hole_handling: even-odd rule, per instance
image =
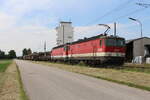
[{"label": "white cloud patch touching the top edge, upper left", "polygon": [[51,3],[51,0],[6,0],[3,10],[10,14],[23,15],[34,10],[47,9]]}]

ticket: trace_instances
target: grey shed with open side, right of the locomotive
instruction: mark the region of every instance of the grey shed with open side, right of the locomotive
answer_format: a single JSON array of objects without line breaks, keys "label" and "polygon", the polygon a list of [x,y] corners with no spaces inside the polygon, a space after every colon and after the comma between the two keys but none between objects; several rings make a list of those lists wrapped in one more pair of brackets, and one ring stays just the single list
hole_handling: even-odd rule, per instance
[{"label": "grey shed with open side, right of the locomotive", "polygon": [[150,56],[150,38],[142,37],[126,41],[126,60],[131,62],[137,56]]}]

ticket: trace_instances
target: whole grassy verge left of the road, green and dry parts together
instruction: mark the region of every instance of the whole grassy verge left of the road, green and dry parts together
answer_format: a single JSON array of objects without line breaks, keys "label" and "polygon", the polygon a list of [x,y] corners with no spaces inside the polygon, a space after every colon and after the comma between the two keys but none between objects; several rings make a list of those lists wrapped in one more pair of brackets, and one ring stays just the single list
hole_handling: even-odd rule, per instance
[{"label": "whole grassy verge left of the road, green and dry parts together", "polygon": [[0,100],[27,100],[19,70],[12,60],[0,60]]}]

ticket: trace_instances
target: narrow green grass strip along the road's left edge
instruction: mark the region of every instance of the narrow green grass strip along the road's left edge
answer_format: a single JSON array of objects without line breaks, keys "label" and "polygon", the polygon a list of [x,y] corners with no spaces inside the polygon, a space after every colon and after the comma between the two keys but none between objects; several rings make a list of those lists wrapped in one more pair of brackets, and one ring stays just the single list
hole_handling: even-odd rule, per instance
[{"label": "narrow green grass strip along the road's left edge", "polygon": [[20,70],[17,65],[16,65],[16,67],[17,67],[17,72],[18,72],[18,81],[20,84],[20,98],[21,98],[21,100],[29,100],[29,98],[24,90],[24,87],[23,87]]}]

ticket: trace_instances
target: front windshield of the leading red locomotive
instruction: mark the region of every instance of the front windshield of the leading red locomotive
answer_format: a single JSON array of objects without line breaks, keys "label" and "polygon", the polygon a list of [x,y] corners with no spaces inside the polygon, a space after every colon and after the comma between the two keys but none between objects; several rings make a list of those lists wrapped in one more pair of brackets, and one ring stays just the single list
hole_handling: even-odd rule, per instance
[{"label": "front windshield of the leading red locomotive", "polygon": [[125,41],[123,39],[106,39],[106,46],[125,46]]}]

